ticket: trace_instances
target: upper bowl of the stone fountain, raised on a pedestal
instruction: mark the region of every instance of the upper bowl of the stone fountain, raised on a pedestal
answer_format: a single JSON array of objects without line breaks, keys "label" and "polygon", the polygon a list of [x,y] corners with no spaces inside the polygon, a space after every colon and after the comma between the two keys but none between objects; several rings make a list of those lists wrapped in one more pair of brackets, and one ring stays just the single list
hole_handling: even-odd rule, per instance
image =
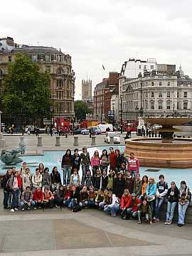
[{"label": "upper bowl of the stone fountain, raised on a pedestal", "polygon": [[145,123],[159,124],[162,127],[182,125],[192,121],[192,117],[143,117]]}]

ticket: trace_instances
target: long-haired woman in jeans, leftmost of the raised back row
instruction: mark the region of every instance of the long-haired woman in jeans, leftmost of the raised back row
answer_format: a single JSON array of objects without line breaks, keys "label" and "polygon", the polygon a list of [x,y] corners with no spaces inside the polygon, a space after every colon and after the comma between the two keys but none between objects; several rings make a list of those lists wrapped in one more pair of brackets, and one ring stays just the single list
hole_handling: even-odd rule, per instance
[{"label": "long-haired woman in jeans, leftmost of the raised back row", "polygon": [[[71,155],[70,149],[67,149],[63,155],[61,162],[61,169],[63,170],[63,185],[66,186],[70,183],[70,175],[73,166],[73,157]],[[68,178],[67,178],[68,177]]]}]

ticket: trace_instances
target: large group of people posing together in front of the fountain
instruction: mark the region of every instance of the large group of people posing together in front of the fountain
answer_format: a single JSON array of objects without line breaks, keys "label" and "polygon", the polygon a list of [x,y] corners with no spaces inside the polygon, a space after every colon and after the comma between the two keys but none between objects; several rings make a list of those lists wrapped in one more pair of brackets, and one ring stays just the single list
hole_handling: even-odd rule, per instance
[{"label": "large group of people posing together in front of the fountain", "polygon": [[[82,176],[80,176],[80,166]],[[174,181],[170,188],[164,175],[159,181],[139,174],[139,160],[130,154],[125,159],[119,149],[110,147],[99,154],[95,150],[92,157],[86,147],[79,154],[68,149],[61,161],[63,182],[60,171],[54,166],[50,172],[48,167],[39,164],[35,174],[31,174],[25,162],[21,170],[14,167],[8,170],[1,186],[4,188],[4,208],[14,212],[36,208],[62,208],[78,211],[82,208],[99,208],[105,213],[129,220],[137,218],[151,223],[159,222],[159,213],[163,203],[166,206],[165,224],[170,225],[178,206],[178,226],[184,225],[186,209],[191,201],[191,192],[186,181],[181,181],[177,188]]]}]

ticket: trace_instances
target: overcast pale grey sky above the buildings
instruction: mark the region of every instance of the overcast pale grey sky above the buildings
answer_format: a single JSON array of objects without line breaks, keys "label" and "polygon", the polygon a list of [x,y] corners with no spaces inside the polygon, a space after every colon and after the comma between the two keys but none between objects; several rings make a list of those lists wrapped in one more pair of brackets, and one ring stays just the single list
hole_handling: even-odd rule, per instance
[{"label": "overcast pale grey sky above the buildings", "polygon": [[0,37],[69,53],[78,99],[83,78],[95,87],[129,58],[181,63],[192,77],[191,8],[190,0],[1,1]]}]

